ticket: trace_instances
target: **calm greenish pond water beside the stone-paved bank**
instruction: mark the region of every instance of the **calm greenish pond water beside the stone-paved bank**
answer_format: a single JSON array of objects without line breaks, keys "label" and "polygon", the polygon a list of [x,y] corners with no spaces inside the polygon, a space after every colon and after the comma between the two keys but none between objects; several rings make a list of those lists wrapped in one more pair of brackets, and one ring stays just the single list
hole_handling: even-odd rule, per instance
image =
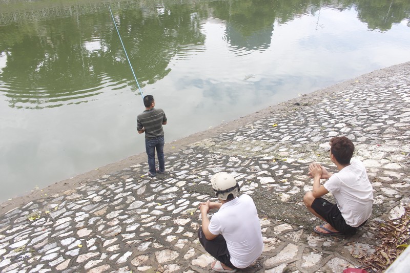
[{"label": "calm greenish pond water beside the stone-paved bank", "polygon": [[[384,3],[384,2],[383,2]],[[410,1],[0,2],[0,201],[410,60]]]}]

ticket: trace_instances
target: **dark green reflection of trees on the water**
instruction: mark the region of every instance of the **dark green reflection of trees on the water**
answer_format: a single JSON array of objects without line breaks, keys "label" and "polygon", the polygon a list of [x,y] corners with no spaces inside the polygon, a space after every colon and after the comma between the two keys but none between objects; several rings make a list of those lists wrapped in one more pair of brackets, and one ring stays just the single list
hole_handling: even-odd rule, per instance
[{"label": "dark green reflection of trees on the water", "polygon": [[[118,6],[130,5],[124,3]],[[84,5],[89,12],[66,7],[54,13],[68,12],[72,16],[46,16],[42,20],[33,16],[32,21],[24,19],[27,16],[18,16],[21,12],[14,16],[2,13],[3,20],[7,17],[16,21],[0,26],[0,94],[6,96],[10,107],[42,109],[87,102],[107,86],[112,90],[126,86],[136,90],[125,54],[110,17],[106,16],[107,3],[95,3],[94,9]],[[368,28],[379,31],[408,18],[410,10],[408,2],[380,5],[368,1],[245,0],[183,4],[170,1],[150,6],[140,3],[114,13],[131,63],[144,87],[170,73],[172,58],[189,59],[204,51],[207,37],[201,24],[209,16],[226,25],[223,38],[236,56],[242,56],[271,46],[275,22],[286,24],[322,7],[355,8]],[[31,12],[49,9],[37,8]],[[13,10],[13,5],[7,10]],[[95,16],[96,10],[102,16]]]}]

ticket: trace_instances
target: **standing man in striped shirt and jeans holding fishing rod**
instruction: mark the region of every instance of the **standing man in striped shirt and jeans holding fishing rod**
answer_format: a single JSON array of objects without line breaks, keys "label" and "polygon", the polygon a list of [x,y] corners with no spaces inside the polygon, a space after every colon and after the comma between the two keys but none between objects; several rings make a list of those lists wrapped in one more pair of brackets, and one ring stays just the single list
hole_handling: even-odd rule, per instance
[{"label": "standing man in striped shirt and jeans holding fishing rod", "polygon": [[[163,156],[163,138],[162,125],[167,124],[167,117],[162,109],[155,109],[155,100],[152,95],[144,97],[145,111],[137,117],[137,130],[139,134],[145,132],[145,149],[148,155],[148,165],[150,177],[156,176],[156,173],[165,173],[165,158]],[[155,169],[155,149],[157,150],[159,169]]]}]

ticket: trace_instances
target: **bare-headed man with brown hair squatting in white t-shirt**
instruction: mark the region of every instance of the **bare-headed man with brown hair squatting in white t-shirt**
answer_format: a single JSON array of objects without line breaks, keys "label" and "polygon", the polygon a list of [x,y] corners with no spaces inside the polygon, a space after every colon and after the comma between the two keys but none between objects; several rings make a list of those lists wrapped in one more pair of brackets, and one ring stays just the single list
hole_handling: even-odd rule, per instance
[{"label": "bare-headed man with brown hair squatting in white t-shirt", "polygon": [[[336,174],[326,171],[318,163],[309,165],[313,177],[313,191],[307,192],[303,202],[309,211],[326,223],[313,231],[321,235],[353,234],[372,214],[373,188],[361,161],[352,159],[355,146],[347,137],[330,141],[330,160],[336,164]],[[320,179],[327,181],[320,185]],[[332,193],[336,204],[321,196]]]}]

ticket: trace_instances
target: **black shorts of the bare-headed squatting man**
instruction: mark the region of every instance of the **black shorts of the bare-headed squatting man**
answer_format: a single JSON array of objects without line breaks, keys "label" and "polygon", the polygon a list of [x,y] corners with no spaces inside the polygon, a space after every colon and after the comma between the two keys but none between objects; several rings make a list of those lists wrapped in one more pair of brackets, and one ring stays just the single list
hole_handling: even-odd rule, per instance
[{"label": "black shorts of the bare-headed squatting man", "polygon": [[[311,206],[314,211],[323,217],[327,223],[331,224],[336,230],[345,234],[355,233],[357,227],[346,224],[342,213],[340,212],[337,204],[332,204],[324,198],[316,198]],[[364,221],[365,223],[366,221]],[[360,226],[364,225],[362,223]]]}]

